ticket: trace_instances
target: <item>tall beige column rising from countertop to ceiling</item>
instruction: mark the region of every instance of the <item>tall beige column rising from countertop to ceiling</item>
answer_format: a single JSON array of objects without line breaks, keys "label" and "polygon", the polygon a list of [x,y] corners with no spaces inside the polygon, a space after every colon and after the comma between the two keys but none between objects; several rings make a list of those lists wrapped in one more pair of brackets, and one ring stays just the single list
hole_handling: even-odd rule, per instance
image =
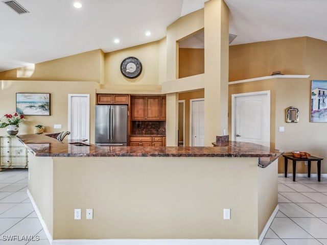
[{"label": "tall beige column rising from countertop to ceiling", "polygon": [[204,145],[228,132],[228,7],[204,4]]}]

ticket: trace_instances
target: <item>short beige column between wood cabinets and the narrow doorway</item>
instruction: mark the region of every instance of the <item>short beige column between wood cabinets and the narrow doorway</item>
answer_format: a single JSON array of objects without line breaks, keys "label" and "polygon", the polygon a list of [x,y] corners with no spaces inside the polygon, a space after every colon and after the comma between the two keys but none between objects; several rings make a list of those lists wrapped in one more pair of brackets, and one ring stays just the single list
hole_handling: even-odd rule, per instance
[{"label": "short beige column between wood cabinets and the narrow doorway", "polygon": [[178,93],[166,94],[166,145],[178,146]]}]

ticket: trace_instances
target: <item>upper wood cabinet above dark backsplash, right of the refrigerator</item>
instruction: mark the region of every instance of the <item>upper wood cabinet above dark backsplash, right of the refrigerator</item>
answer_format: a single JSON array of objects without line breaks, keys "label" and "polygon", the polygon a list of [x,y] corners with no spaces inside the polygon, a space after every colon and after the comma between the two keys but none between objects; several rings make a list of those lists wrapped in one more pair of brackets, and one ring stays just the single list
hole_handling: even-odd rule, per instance
[{"label": "upper wood cabinet above dark backsplash, right of the refrigerator", "polygon": [[[132,96],[132,120],[166,120],[166,97]],[[165,109],[162,108],[164,101]],[[165,112],[165,113],[164,113]]]}]

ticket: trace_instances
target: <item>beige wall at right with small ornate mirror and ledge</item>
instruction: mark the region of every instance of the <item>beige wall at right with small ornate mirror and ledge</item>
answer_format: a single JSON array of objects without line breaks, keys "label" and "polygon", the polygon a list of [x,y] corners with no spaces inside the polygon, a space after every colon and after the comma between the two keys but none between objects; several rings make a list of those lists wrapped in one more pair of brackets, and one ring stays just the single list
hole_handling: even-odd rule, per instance
[{"label": "beige wall at right with small ornate mirror and ledge", "polygon": [[[230,46],[229,76],[231,81],[268,76],[273,70],[283,74],[310,75],[309,79],[276,78],[264,81],[229,85],[229,117],[231,115],[230,96],[233,93],[271,91],[271,146],[290,153],[309,152],[327,159],[324,123],[310,122],[311,80],[325,80],[327,77],[327,42],[309,38],[291,38],[269,42]],[[244,64],[244,65],[242,65]],[[285,109],[299,108],[299,122],[285,122]],[[231,120],[229,119],[229,125]],[[278,132],[278,127],[285,132]],[[321,173],[327,173],[327,165],[322,161]],[[311,173],[316,172],[316,163]],[[292,173],[289,163],[289,173]],[[303,162],[297,163],[297,173],[307,173]],[[284,173],[284,158],[279,158],[278,173]]]}]

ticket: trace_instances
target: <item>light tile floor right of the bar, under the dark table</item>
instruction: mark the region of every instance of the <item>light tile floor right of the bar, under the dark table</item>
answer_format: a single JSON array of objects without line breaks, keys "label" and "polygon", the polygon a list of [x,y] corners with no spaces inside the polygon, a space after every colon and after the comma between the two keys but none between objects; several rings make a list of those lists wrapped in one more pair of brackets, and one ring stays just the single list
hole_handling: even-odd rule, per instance
[{"label": "light tile floor right of the bar, under the dark table", "polygon": [[327,245],[327,178],[278,177],[276,214],[261,245]]}]

